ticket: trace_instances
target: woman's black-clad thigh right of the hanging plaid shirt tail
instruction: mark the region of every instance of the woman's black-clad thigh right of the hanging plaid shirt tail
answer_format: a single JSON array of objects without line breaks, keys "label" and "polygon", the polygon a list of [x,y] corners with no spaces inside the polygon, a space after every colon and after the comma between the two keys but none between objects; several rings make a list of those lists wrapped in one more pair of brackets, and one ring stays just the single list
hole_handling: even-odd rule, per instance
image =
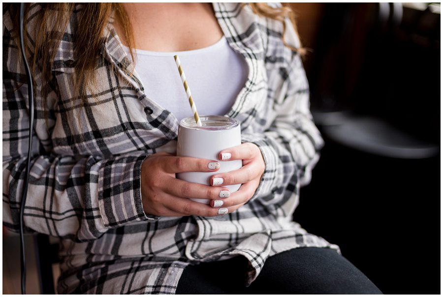
[{"label": "woman's black-clad thigh right of the hanging plaid shirt tail", "polygon": [[269,257],[249,294],[382,294],[335,250],[302,247]]}]

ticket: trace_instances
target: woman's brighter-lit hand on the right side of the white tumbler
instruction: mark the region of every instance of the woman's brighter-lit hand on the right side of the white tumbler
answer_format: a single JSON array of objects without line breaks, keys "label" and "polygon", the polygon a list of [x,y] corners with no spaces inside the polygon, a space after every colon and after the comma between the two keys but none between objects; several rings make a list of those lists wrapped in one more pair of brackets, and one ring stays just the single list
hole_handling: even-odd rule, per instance
[{"label": "woman's brighter-lit hand on the right side of the white tumbler", "polygon": [[261,176],[265,170],[265,163],[260,148],[253,143],[243,143],[240,146],[224,149],[219,153],[219,160],[243,160],[243,167],[231,172],[216,174],[210,178],[212,186],[226,186],[242,184],[237,192],[230,194],[229,198],[211,200],[211,206],[223,206],[232,212],[247,203],[257,189]]}]

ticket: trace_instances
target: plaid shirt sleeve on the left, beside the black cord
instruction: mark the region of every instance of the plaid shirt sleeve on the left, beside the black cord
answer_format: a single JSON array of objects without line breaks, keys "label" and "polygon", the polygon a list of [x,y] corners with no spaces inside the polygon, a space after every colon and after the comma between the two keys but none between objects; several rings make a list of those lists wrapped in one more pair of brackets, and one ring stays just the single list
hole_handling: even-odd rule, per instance
[{"label": "plaid shirt sleeve on the left, beside the black cord", "polygon": [[[3,23],[3,225],[18,232],[29,139],[28,85],[19,47]],[[34,74],[37,89],[41,73]],[[52,88],[48,106],[57,106]],[[156,220],[143,211],[141,164],[136,151],[112,157],[54,153],[50,132],[55,108],[44,112],[35,92],[35,124],[24,224],[27,231],[76,241],[100,237],[111,228]]]}]

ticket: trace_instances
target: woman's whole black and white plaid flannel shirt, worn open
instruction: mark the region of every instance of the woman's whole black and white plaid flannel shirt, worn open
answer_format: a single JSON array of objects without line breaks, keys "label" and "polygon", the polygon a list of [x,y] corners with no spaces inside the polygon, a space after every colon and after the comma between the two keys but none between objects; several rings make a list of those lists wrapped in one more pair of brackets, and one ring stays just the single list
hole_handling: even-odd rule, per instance
[{"label": "woman's whole black and white plaid flannel shirt, worn open", "polygon": [[[273,4],[278,5],[278,4]],[[95,74],[98,89],[83,106],[74,89],[76,5],[52,65],[47,98],[36,96],[36,123],[25,224],[61,238],[59,293],[173,294],[190,264],[243,255],[245,284],[267,257],[315,246],[337,250],[292,222],[299,187],[323,145],[309,111],[309,90],[298,54],[284,46],[282,24],[249,6],[214,3],[229,45],[243,55],[248,81],[227,116],[241,122],[244,142],[261,149],[266,170],[253,198],[218,217],[156,217],[143,212],[140,167],[152,153],[174,153],[178,120],[149,99],[113,29],[104,32]],[[243,8],[242,8],[243,7]],[[33,44],[32,5],[26,38]],[[285,40],[298,39],[287,21]],[[28,145],[28,97],[19,46],[3,11],[3,225],[18,230]],[[31,48],[32,50],[32,48]],[[172,57],[171,57],[172,59]],[[115,69],[115,71],[113,70]],[[174,69],[176,71],[176,69]],[[41,74],[33,74],[37,87]],[[177,75],[176,72],[171,75]]]}]

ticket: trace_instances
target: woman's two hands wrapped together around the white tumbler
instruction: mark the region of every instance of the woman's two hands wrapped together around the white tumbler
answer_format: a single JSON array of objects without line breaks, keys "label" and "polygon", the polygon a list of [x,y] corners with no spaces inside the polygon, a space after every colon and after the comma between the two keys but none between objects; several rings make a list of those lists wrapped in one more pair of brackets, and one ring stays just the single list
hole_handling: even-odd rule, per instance
[{"label": "woman's two hands wrapped together around the white tumbler", "polygon": [[[217,174],[219,169],[209,169],[207,160],[191,157],[177,157],[166,152],[159,152],[147,157],[142,164],[141,193],[145,213],[158,216],[216,216],[221,215],[220,208],[232,212],[251,199],[260,183],[265,164],[260,149],[252,143],[225,149],[219,153],[230,152],[229,160],[242,160],[243,167],[229,173]],[[225,160],[228,161],[228,160]],[[210,178],[223,178],[221,185],[203,185],[186,182],[175,178],[179,172],[214,172]],[[221,191],[229,191],[226,185],[239,184],[237,192],[229,198],[220,199]],[[211,199],[210,205],[191,201],[187,198]],[[215,200],[222,200],[222,207],[214,207]]]}]

